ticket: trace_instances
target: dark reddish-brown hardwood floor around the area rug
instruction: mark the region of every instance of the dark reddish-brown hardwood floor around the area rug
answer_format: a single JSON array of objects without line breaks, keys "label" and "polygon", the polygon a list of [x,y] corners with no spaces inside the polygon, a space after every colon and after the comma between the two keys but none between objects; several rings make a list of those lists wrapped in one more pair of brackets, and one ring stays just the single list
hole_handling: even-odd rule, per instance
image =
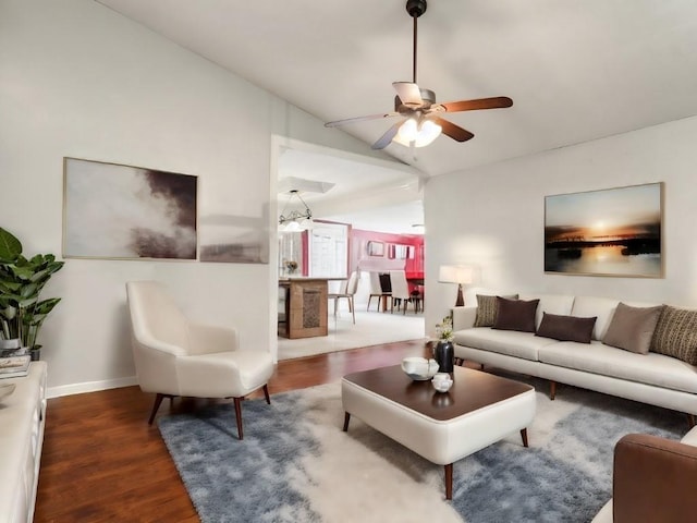
[{"label": "dark reddish-brown hardwood floor around the area rug", "polygon": [[[407,355],[429,356],[424,342],[414,341],[283,361],[269,391],[334,381]],[[178,399],[171,409],[195,409],[200,401]],[[199,521],[156,424],[147,424],[152,402],[154,394],[138,387],[49,400],[36,523]],[[172,411],[164,401],[159,415]]]}]

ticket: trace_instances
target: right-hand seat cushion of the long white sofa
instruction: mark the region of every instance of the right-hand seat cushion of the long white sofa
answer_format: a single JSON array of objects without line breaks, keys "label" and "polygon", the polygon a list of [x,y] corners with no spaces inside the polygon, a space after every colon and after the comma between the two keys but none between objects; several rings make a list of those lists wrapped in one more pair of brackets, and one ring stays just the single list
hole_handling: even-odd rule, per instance
[{"label": "right-hand seat cushion of the long white sofa", "polygon": [[617,379],[697,393],[695,367],[675,357],[622,351],[599,341],[558,341],[540,346],[540,362]]}]

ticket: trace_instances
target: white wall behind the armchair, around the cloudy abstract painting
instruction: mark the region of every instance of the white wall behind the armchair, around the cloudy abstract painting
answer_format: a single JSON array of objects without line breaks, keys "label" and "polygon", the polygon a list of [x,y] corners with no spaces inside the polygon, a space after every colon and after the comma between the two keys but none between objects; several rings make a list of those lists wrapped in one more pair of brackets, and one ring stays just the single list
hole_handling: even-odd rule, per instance
[{"label": "white wall behind the armchair, around the cloudy abstract painting", "polygon": [[[60,257],[65,156],[196,174],[199,215],[274,220],[272,134],[371,154],[96,2],[0,0],[0,227],[25,254]],[[62,297],[39,337],[51,393],[134,382],[129,280],[163,281],[192,317],[237,326],[243,344],[273,350],[274,270],[69,259],[45,290]]]}]

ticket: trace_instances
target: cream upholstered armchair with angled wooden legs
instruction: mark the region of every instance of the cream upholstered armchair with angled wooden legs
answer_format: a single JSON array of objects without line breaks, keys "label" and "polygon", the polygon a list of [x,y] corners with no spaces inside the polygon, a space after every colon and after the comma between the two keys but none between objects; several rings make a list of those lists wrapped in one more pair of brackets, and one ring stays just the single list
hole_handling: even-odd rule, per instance
[{"label": "cream upholstered armchair with angled wooden legs", "polygon": [[237,332],[189,321],[156,281],[126,283],[138,385],[155,392],[151,424],[164,398],[233,398],[243,439],[242,400],[264,388],[273,373],[271,354],[239,348]]}]

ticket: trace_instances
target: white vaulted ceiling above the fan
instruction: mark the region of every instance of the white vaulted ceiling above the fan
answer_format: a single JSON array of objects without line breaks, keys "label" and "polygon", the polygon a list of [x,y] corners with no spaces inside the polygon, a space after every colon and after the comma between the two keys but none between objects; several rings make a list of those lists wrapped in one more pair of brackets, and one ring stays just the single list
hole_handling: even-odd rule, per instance
[{"label": "white vaulted ceiling above the fan", "polygon": [[[412,80],[405,0],[97,0],[327,122],[393,109]],[[420,87],[440,102],[509,96],[448,114],[475,137],[384,151],[425,175],[697,114],[694,0],[430,0]],[[346,132],[372,144],[394,122]]]}]

